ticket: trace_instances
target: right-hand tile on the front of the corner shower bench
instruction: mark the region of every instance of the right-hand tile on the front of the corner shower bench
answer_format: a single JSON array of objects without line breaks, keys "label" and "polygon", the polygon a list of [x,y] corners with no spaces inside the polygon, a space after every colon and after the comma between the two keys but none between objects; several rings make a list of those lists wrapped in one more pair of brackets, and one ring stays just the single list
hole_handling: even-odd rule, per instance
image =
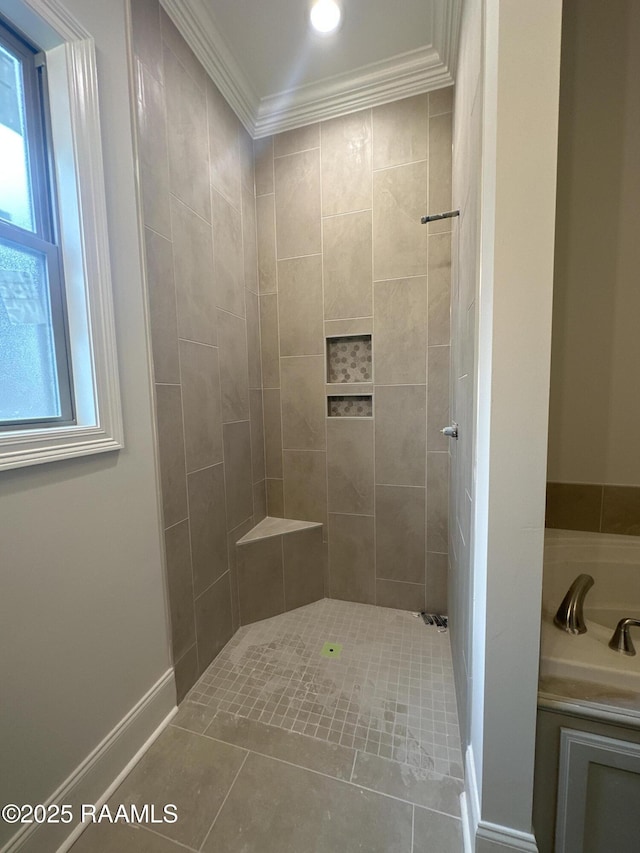
[{"label": "right-hand tile on the front of the corner shower bench", "polygon": [[293,610],[324,598],[325,547],[319,527],[287,533],[282,537],[284,554],[285,610]]}]

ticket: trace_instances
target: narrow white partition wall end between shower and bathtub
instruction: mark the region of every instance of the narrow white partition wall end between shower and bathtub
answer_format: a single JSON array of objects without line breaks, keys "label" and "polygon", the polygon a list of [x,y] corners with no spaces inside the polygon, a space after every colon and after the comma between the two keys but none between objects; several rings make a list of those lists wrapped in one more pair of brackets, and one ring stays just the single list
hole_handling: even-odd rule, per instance
[{"label": "narrow white partition wall end between shower and bathtub", "polygon": [[[469,213],[478,208],[462,194],[465,169],[480,170],[479,243],[474,247],[470,229],[463,242],[461,224],[457,278],[460,287],[470,277],[478,288],[471,367],[475,436],[472,467],[466,469],[471,548],[458,571],[468,573],[471,625],[465,709],[470,831],[482,853],[536,850],[531,810],[561,5],[561,0],[467,3],[466,25],[478,34],[481,59],[462,56],[465,91],[456,101],[456,111],[463,109],[456,144],[471,140],[464,157],[454,152],[454,185],[461,193],[456,203],[467,204]],[[481,98],[474,94],[478,79]],[[473,148],[474,102],[482,109],[481,158]],[[474,186],[468,174],[466,185]],[[474,304],[471,293],[468,304]],[[472,338],[470,329],[466,336]],[[453,488],[459,491],[457,483]],[[457,669],[458,649],[455,637]]]}]

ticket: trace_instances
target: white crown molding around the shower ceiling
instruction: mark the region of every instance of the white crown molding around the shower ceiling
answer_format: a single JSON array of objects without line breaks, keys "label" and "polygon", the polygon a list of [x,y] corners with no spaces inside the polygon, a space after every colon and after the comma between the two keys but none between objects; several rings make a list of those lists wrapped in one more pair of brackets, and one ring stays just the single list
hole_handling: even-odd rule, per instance
[{"label": "white crown molding around the shower ceiling", "polygon": [[206,0],[161,3],[254,139],[454,82],[462,0],[434,0],[431,45],[264,98],[225,42]]}]

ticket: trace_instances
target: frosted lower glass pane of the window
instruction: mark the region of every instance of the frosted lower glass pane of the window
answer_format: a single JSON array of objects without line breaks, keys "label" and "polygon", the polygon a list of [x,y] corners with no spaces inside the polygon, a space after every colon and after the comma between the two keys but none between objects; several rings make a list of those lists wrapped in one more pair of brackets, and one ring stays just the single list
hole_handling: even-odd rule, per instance
[{"label": "frosted lower glass pane of the window", "polygon": [[46,258],[0,241],[0,423],[61,416]]}]

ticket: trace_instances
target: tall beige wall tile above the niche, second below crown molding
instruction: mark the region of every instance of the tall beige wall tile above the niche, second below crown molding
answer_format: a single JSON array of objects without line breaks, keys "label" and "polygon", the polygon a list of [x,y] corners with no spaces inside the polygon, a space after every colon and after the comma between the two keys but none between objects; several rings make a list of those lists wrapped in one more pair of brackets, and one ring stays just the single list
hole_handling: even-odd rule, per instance
[{"label": "tall beige wall tile above the niche, second below crown molding", "polygon": [[324,316],[372,312],[371,211],[323,219]]}]

